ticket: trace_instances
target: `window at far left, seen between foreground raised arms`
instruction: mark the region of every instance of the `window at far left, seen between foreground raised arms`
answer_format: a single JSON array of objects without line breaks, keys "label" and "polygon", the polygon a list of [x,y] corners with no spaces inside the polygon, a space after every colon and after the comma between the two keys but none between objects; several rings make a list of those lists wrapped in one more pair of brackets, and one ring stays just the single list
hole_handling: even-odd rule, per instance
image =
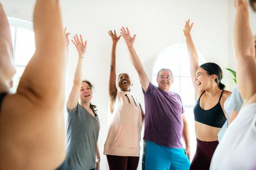
[{"label": "window at far left, seen between foreground raised arms", "polygon": [[19,79],[22,76],[25,67],[35,52],[35,40],[33,24],[29,21],[8,17],[13,43],[13,65],[16,68],[16,74],[13,77],[13,88],[16,92]]}]

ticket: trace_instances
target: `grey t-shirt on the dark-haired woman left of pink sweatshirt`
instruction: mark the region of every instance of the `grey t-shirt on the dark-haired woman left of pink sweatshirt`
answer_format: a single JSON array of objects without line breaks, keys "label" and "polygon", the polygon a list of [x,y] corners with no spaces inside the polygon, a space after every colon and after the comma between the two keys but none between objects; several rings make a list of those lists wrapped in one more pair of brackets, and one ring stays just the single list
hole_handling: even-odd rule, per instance
[{"label": "grey t-shirt on the dark-haired woman left of pink sweatshirt", "polygon": [[73,111],[68,107],[67,162],[69,169],[96,167],[99,118],[91,115],[79,103]]}]

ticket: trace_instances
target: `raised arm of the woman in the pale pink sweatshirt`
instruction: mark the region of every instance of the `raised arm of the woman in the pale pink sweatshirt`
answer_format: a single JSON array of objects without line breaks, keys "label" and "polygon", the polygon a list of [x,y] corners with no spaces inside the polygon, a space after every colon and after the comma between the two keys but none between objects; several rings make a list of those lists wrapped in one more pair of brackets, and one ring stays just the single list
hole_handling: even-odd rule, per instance
[{"label": "raised arm of the woman in the pale pink sweatshirt", "polygon": [[110,62],[110,80],[109,80],[109,99],[110,106],[113,109],[116,101],[116,45],[121,35],[118,37],[116,31],[113,32],[110,30],[109,35],[112,39],[112,52],[111,52],[111,62]]}]

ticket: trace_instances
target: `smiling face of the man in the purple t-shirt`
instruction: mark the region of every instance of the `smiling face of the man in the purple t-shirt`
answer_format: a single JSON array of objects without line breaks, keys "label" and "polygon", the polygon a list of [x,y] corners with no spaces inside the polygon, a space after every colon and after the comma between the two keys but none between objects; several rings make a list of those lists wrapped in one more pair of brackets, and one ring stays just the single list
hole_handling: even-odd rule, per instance
[{"label": "smiling face of the man in the purple t-shirt", "polygon": [[159,72],[159,76],[157,77],[158,88],[164,91],[169,91],[173,82],[172,73],[169,70],[162,70]]}]

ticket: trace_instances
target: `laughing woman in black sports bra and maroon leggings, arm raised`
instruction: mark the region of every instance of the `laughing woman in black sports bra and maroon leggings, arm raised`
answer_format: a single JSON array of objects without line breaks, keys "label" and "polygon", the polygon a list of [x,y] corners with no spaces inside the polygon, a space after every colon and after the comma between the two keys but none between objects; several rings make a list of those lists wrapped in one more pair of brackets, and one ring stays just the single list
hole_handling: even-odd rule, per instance
[{"label": "laughing woman in black sports bra and maroon leggings, arm raised", "polygon": [[191,78],[198,99],[194,107],[197,150],[190,169],[209,169],[212,155],[219,144],[218,132],[226,121],[224,102],[231,92],[224,90],[222,70],[218,64],[204,63],[199,66],[197,50],[190,35],[192,27],[193,23],[189,25],[188,20],[183,30]]}]

